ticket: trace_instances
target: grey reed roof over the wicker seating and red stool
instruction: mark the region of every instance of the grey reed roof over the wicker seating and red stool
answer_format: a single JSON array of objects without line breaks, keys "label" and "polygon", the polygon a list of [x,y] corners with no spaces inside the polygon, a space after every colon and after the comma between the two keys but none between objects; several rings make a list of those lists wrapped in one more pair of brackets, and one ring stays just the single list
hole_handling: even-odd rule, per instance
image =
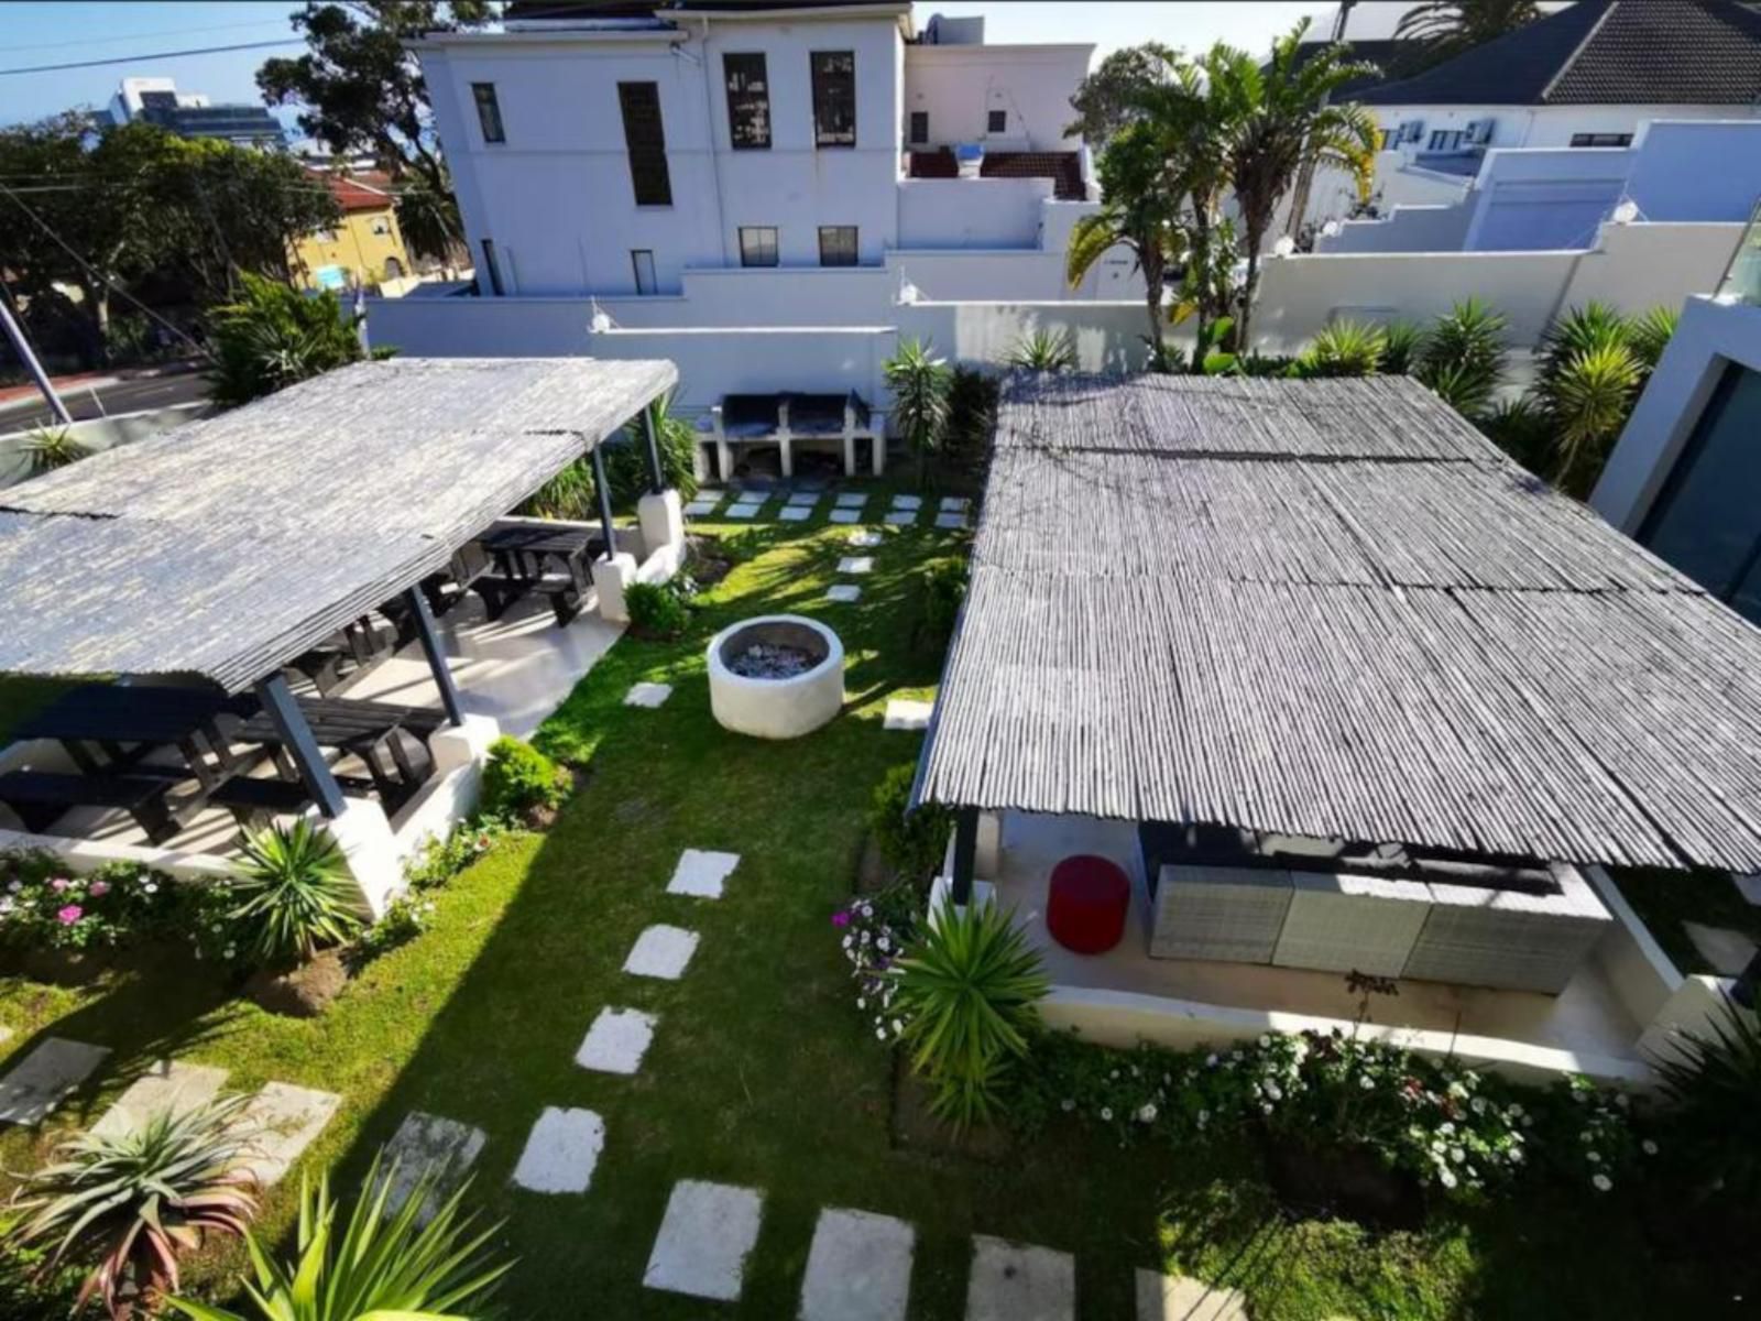
[{"label": "grey reed roof over the wicker seating and red stool", "polygon": [[1761,870],[1761,632],[1404,379],[1004,391],[919,801]]}]

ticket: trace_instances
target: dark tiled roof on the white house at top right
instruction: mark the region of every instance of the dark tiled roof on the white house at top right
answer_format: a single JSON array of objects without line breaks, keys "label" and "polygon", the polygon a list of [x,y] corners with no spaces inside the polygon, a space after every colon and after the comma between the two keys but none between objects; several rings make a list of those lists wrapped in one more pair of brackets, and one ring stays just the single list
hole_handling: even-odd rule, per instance
[{"label": "dark tiled roof on the white house at top right", "polygon": [[1365,106],[1747,106],[1761,14],[1736,0],[1578,0],[1453,60],[1358,93]]}]

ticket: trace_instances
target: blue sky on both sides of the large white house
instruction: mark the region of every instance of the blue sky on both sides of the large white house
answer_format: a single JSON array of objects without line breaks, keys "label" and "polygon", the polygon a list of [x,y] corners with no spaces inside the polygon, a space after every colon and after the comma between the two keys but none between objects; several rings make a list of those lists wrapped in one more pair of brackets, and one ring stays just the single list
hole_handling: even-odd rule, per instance
[{"label": "blue sky on both sides of the large white house", "polygon": [[[1363,4],[1352,28],[1375,35],[1377,9],[1404,5]],[[289,14],[299,5],[287,0],[225,0],[151,4],[76,4],[62,0],[11,0],[0,4],[0,123],[35,120],[70,106],[104,106],[125,76],[169,76],[185,92],[206,92],[215,100],[257,100],[254,74],[266,58],[284,51],[254,49],[180,58],[132,58],[97,69],[42,74],[5,74],[76,60],[153,55],[203,46],[287,41],[285,53],[299,42]],[[984,14],[986,37],[995,42],[1092,41],[1099,53],[1157,39],[1187,49],[1229,41],[1261,51],[1278,32],[1303,14],[1324,12],[1324,0],[1192,0],[1187,4],[1011,4],[976,0],[919,4],[917,21],[932,12]]]}]

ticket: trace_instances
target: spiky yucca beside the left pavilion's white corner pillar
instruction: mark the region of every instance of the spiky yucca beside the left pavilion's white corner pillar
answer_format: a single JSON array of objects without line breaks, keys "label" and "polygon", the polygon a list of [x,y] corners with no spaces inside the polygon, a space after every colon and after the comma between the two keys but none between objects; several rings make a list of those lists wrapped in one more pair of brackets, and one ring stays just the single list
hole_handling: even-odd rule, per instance
[{"label": "spiky yucca beside the left pavilion's white corner pillar", "polygon": [[259,965],[312,958],[361,930],[354,882],[326,831],[301,819],[245,835],[239,847],[245,867],[232,891],[243,904],[231,916],[250,930]]}]

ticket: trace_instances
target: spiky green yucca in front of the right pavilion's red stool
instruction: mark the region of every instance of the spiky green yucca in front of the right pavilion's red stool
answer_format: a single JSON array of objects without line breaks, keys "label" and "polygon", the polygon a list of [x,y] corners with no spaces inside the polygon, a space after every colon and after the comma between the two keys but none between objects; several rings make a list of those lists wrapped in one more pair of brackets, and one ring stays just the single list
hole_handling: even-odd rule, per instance
[{"label": "spiky green yucca in front of the right pavilion's red stool", "polygon": [[1000,1104],[1007,1066],[1027,1053],[1050,983],[1011,914],[995,904],[942,907],[893,967],[893,1007],[933,1111],[965,1127]]}]

